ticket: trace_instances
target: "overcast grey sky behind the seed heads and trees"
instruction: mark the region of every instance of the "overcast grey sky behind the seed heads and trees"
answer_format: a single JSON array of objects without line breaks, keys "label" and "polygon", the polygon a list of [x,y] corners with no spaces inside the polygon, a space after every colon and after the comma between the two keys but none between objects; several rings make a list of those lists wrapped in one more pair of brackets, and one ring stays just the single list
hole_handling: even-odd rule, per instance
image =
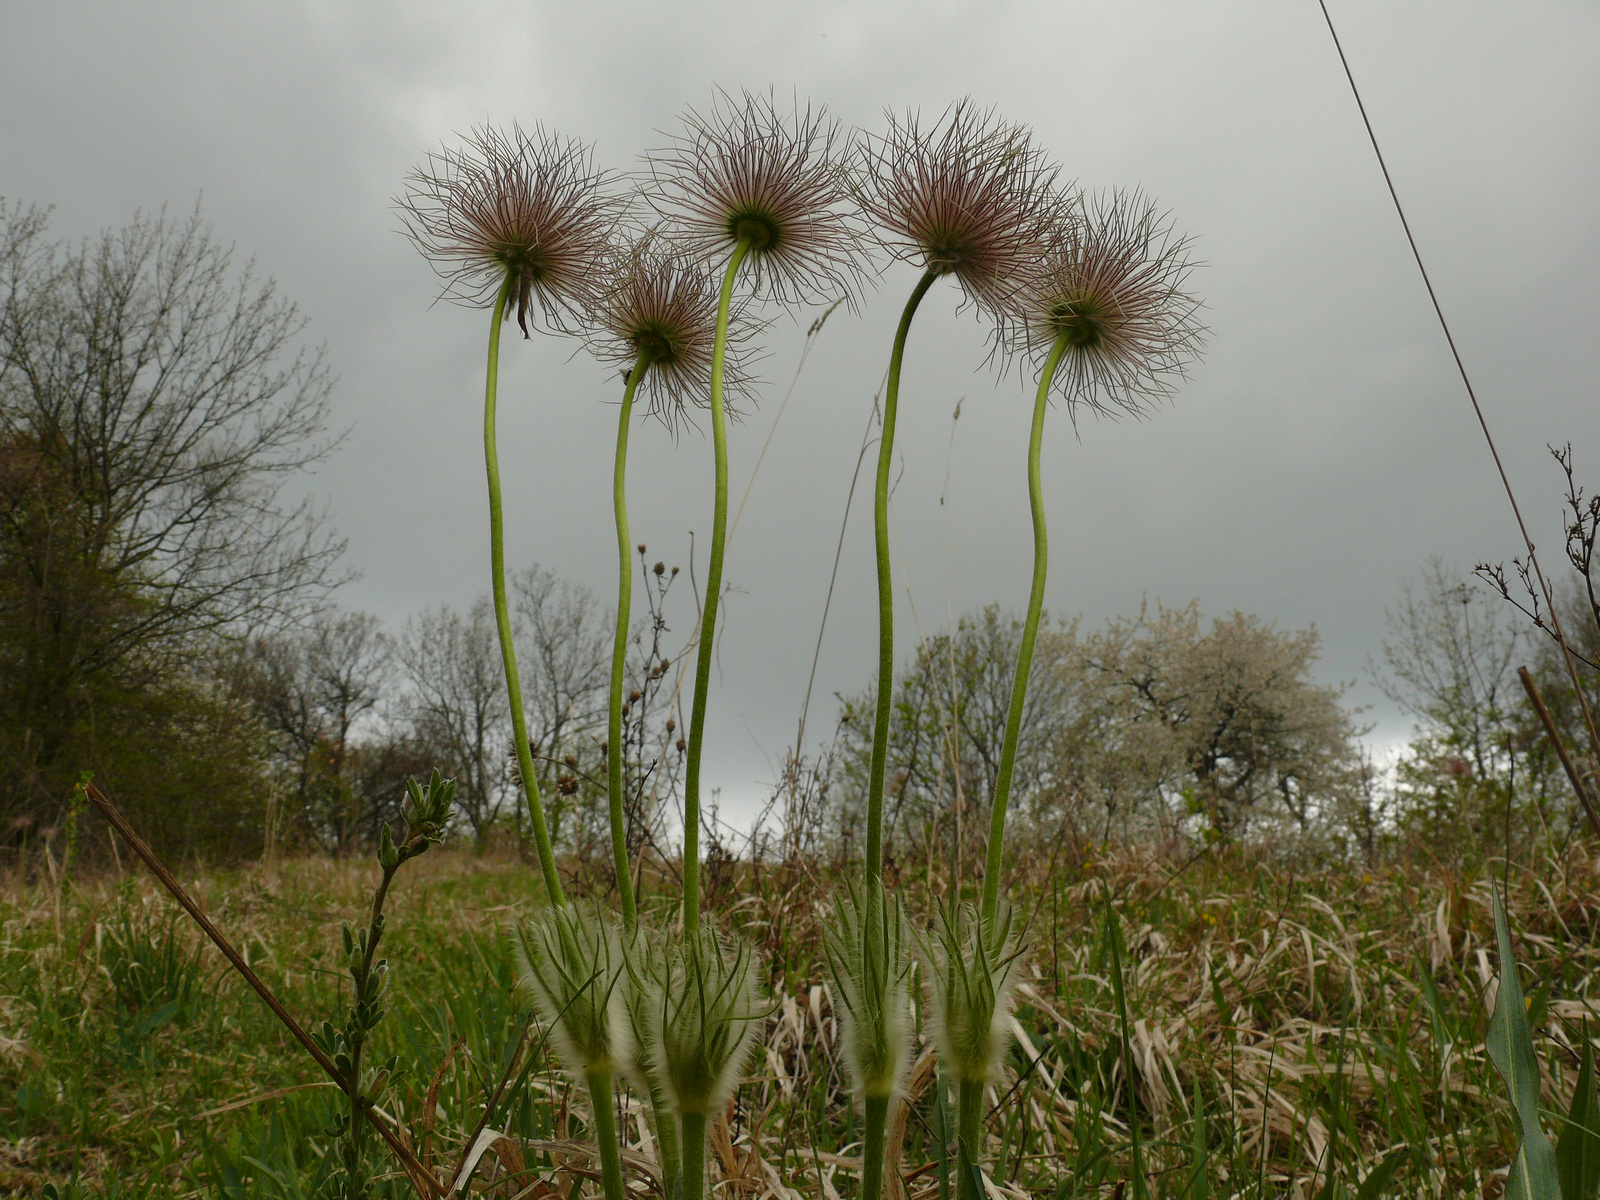
[{"label": "overcast grey sky behind the seed heads and trees", "polygon": [[[1330,8],[1536,541],[1558,541],[1546,442],[1600,478],[1600,10],[1571,3]],[[312,482],[386,619],[486,586],[483,314],[394,230],[392,197],[474,123],[544,122],[616,168],[715,85],[798,93],[842,120],[971,94],[1035,128],[1091,189],[1141,186],[1197,238],[1210,352],[1154,418],[1051,416],[1053,613],[1141,597],[1315,624],[1323,678],[1358,680],[1374,738],[1406,722],[1371,686],[1384,608],[1429,555],[1509,558],[1515,528],[1314,0],[1254,3],[0,3],[0,194],[83,235],[203,195],[326,342],[346,446]],[[763,406],[731,437],[722,678],[706,773],[749,800],[794,736],[845,491],[914,275],[835,314],[773,432],[803,330],[781,318]],[[507,342],[501,450],[514,563],[614,586],[618,387],[573,346]],[[1021,608],[1029,392],[982,370],[984,330],[936,291],[907,352],[894,496],[901,646],[949,610]],[[950,414],[963,400],[955,427]],[[946,466],[949,496],[941,506]],[[634,437],[632,522],[686,565],[710,446]],[[851,515],[818,694],[870,674],[870,504]],[[702,541],[704,546],[704,541]],[[915,618],[912,613],[915,603]],[[680,611],[680,624],[688,618]],[[813,715],[811,728],[829,720]]]}]

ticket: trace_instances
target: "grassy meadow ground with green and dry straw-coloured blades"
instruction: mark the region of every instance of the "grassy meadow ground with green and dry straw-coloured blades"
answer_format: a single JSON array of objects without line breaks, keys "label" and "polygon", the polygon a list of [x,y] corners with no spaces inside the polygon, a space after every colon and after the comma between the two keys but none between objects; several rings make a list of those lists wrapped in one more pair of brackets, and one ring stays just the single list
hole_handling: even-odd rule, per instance
[{"label": "grassy meadow ground with green and dry straw-coloured blades", "polygon": [[[362,918],[371,862],[181,874],[304,1024],[342,1021],[339,925]],[[1024,862],[1011,894],[1032,949],[989,1118],[995,1189],[1110,1197],[1142,1171],[1168,1200],[1498,1195],[1517,1134],[1483,1053],[1490,878],[1437,864],[1296,872],[1240,850]],[[765,954],[773,1000],[714,1131],[717,1195],[848,1198],[858,1118],[818,941],[826,872],[731,866],[714,882],[715,907]],[[925,883],[901,878],[899,893]],[[398,1056],[384,1109],[438,1174],[522,1038],[504,928],[538,896],[525,864],[451,850],[390,893],[390,1013],[374,1054]],[[1554,1139],[1600,965],[1600,858],[1576,845],[1512,869],[1509,898]],[[664,918],[667,899],[656,907]],[[942,1192],[920,1045],[898,1117],[901,1200]],[[0,1195],[53,1181],[64,1197],[312,1197],[334,1096],[152,880],[0,882]],[[630,1182],[648,1195],[648,1126],[635,1107],[624,1115]],[[506,1138],[475,1190],[598,1194],[581,1098],[542,1053],[518,1064],[491,1128]],[[410,1194],[398,1178],[381,1192]]]}]

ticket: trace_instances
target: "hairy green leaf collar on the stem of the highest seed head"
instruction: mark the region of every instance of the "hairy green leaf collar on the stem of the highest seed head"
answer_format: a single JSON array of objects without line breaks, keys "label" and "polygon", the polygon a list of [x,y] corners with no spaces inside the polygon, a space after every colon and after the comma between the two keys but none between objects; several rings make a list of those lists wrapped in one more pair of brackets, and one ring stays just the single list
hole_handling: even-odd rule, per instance
[{"label": "hairy green leaf collar on the stem of the highest seed head", "polygon": [[755,1002],[755,958],[738,938],[699,933],[669,950],[651,1014],[651,1054],[677,1112],[715,1112],[744,1074],[766,1010]]}]

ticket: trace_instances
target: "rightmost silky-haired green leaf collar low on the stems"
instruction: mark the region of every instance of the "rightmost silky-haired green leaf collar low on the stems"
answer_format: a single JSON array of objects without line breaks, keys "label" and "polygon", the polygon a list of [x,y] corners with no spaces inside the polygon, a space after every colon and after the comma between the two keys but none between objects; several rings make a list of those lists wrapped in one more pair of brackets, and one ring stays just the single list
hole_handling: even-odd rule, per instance
[{"label": "rightmost silky-haired green leaf collar low on the stems", "polygon": [[944,1066],[960,1080],[998,1078],[1011,1042],[1013,990],[1021,976],[1022,931],[1010,907],[994,923],[963,906],[939,910],[933,942],[922,957],[933,992],[933,1037]]}]

